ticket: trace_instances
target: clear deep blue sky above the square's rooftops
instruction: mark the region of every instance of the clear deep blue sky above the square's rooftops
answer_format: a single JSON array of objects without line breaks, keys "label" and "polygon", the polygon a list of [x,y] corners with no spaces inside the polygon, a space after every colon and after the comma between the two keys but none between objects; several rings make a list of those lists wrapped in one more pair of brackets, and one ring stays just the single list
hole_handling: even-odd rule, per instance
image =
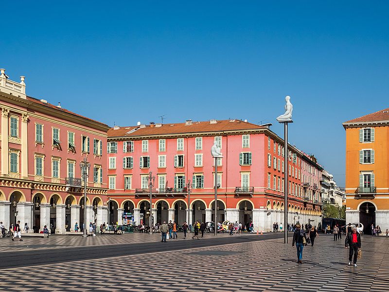
[{"label": "clear deep blue sky above the square's rooftops", "polygon": [[[0,67],[110,126],[273,123],[344,186],[342,122],[388,108],[385,1],[7,1]],[[20,4],[20,5],[17,5]]]}]

